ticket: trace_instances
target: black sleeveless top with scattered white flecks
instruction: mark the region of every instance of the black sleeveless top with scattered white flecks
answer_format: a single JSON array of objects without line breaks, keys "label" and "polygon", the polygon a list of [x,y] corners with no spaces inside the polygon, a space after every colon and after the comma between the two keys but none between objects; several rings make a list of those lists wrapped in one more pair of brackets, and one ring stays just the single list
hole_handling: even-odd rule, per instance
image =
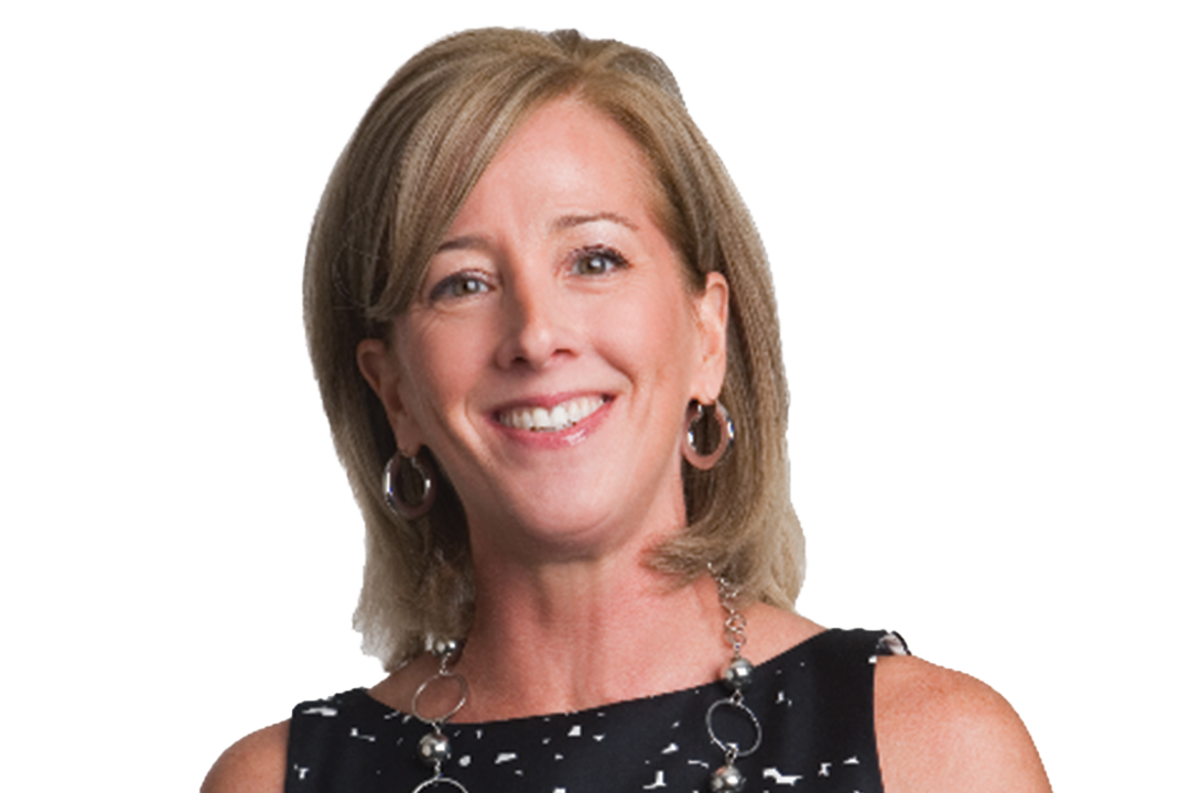
[{"label": "black sleeveless top with scattered white flecks", "polygon": [[[735,761],[747,789],[883,793],[872,680],[877,655],[907,653],[891,631],[832,629],[757,667],[744,703],[763,726]],[[596,707],[484,724],[446,724],[443,775],[469,793],[706,791],[724,751],[707,711],[727,697],[701,686]],[[713,716],[725,743],[747,749],[756,728],[733,707]],[[352,688],[299,703],[289,724],[286,793],[412,793],[433,776],[416,754],[430,728]],[[457,793],[452,785],[426,793]]]}]

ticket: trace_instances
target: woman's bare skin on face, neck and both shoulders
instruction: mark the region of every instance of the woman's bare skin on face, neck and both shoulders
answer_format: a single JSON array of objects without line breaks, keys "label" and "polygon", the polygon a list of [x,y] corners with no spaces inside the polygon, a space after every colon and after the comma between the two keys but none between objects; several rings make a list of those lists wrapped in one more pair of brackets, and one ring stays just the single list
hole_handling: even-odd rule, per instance
[{"label": "woman's bare skin on face, neck and both shoulders", "polygon": [[[359,345],[402,453],[431,448],[466,510],[477,613],[456,722],[704,685],[729,656],[714,583],[674,590],[641,564],[685,525],[684,414],[722,385],[728,303],[718,273],[691,292],[654,207],[619,126],[549,105],[484,172],[394,338]],[[564,433],[501,423],[575,396],[605,403]],[[822,630],[764,605],[746,615],[758,663]],[[409,711],[433,668],[416,659],[371,693]],[[881,659],[875,709],[889,793],[1052,791],[1023,722],[970,675]],[[200,791],[280,793],[287,737],[281,722],[240,738]]]}]

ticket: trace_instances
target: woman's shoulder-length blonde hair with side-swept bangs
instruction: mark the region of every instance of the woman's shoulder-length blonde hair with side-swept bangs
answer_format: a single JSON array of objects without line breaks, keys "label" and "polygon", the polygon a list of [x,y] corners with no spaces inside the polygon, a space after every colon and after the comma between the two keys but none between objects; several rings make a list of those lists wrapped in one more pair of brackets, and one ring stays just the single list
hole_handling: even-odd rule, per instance
[{"label": "woman's shoulder-length blonde hair with side-swept bangs", "polygon": [[403,521],[386,506],[381,471],[396,442],[356,347],[390,339],[496,150],[563,96],[606,113],[647,155],[659,222],[691,289],[712,271],[731,285],[720,402],[734,418],[734,447],[710,471],[683,467],[689,529],[657,548],[652,565],[677,584],[713,565],[745,598],[787,610],[801,594],[808,560],[790,499],[790,390],[772,268],[674,71],[652,50],[577,30],[459,29],[402,58],[357,117],[319,194],[302,266],[306,354],[364,529],[351,629],[361,654],[386,671],[431,636],[465,635],[474,573],[463,509],[440,471],[427,516]]}]

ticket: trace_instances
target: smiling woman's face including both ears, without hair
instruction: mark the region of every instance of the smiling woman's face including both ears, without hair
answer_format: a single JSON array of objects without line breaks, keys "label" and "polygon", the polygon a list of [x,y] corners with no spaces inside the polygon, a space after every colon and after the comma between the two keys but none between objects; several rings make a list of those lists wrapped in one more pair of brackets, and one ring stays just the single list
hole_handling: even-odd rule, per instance
[{"label": "smiling woman's face including both ears, without hair", "polygon": [[389,350],[361,345],[402,452],[434,453],[476,554],[684,525],[679,441],[689,401],[722,384],[727,285],[713,273],[691,295],[656,195],[620,126],[545,106],[463,204]]}]

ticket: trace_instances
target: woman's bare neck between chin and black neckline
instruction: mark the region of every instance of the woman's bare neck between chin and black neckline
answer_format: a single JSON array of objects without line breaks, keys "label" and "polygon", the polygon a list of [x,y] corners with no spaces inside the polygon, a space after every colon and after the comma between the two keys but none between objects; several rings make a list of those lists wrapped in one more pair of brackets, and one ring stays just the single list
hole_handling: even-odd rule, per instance
[{"label": "woman's bare neck between chin and black neckline", "polygon": [[456,720],[584,710],[718,679],[731,657],[715,583],[690,586],[605,558],[476,571],[477,610],[457,671]]}]

